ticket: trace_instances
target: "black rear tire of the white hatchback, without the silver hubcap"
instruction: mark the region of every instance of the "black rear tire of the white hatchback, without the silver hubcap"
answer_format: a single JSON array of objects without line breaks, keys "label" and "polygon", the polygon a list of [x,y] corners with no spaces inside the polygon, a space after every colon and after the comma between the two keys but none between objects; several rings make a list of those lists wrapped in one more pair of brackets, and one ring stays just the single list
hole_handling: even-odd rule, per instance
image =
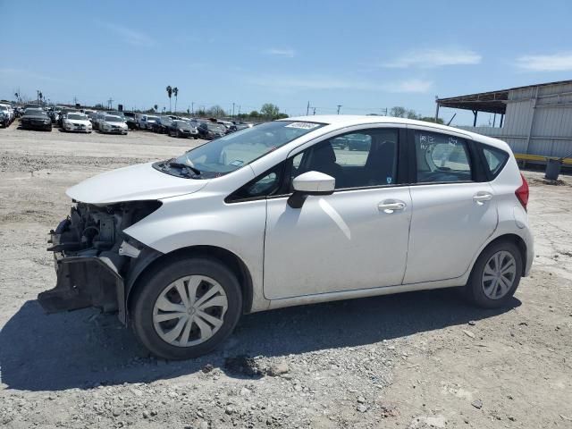
[{"label": "black rear tire of the white hatchback, without the silver hubcap", "polygon": [[[484,293],[484,287],[482,284],[484,268],[491,257],[501,251],[509,252],[509,254],[514,258],[516,273],[514,274],[514,280],[509,291],[500,299],[491,299]],[[522,255],[514,243],[510,241],[498,241],[493,243],[489,247],[485,248],[483,253],[476,260],[475,266],[473,266],[473,271],[471,272],[467,285],[465,286],[465,296],[470,302],[478,307],[506,307],[518,288],[518,283],[520,282],[520,277],[522,275],[522,266]]]}]

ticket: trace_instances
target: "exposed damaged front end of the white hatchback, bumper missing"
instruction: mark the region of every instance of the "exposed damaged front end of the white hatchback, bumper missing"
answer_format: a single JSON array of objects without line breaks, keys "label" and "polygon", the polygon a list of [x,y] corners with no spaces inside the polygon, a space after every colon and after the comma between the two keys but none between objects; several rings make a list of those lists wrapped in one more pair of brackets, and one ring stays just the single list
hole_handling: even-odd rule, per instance
[{"label": "exposed damaged front end of the white hatchback, bumper missing", "polygon": [[116,312],[125,324],[127,288],[161,253],[123,231],[160,206],[159,201],[131,201],[71,207],[71,214],[50,231],[47,250],[54,252],[57,282],[38,295],[46,313],[97,307]]}]

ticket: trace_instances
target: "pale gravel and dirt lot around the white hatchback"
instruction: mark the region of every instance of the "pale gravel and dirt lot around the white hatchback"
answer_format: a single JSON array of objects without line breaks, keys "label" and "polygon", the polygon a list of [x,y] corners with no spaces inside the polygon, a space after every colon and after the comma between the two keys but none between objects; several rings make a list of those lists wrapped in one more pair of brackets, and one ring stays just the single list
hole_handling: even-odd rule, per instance
[{"label": "pale gravel and dirt lot around the white hatchback", "polygon": [[44,315],[64,190],[193,140],[0,130],[0,426],[572,427],[572,178],[526,172],[536,254],[511,306],[454,290],[247,315],[224,348],[148,357],[113,315]]}]

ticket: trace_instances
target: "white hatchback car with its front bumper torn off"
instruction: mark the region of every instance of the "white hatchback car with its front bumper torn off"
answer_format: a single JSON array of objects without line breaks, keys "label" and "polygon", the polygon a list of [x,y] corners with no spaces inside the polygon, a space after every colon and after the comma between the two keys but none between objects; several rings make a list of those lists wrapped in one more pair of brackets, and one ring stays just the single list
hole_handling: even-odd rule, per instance
[{"label": "white hatchback car with its front bumper torn off", "polygon": [[429,122],[267,122],[67,194],[40,303],[117,312],[172,359],[278,307],[459,286],[501,307],[533,262],[509,146]]}]

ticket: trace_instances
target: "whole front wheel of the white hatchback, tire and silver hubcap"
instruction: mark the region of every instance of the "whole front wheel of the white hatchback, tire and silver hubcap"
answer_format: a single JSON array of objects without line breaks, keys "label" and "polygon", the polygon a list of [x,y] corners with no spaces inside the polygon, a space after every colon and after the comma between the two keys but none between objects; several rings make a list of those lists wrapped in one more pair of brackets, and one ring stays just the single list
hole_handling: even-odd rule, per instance
[{"label": "whole front wheel of the white hatchback, tire and silver hubcap", "polygon": [[242,309],[236,276],[218,261],[175,260],[149,273],[131,300],[139,341],[158,357],[189,359],[215,349]]}]

